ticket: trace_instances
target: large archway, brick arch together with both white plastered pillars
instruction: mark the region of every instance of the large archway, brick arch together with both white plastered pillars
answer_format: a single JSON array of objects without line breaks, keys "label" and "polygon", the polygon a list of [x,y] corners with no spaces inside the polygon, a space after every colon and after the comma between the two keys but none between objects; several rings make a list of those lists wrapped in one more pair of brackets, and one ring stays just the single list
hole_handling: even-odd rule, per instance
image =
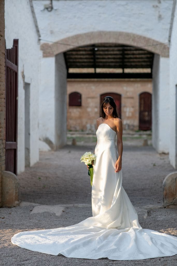
[{"label": "large archway, brick arch together with both white plastered pillars", "polygon": [[[153,147],[156,148],[158,152],[168,152],[169,145],[168,140],[165,138],[165,131],[163,130],[164,133],[162,134],[162,130],[159,130],[163,127],[163,121],[160,113],[161,111],[164,112],[164,109],[159,111],[159,107],[164,106],[164,99],[167,94],[169,78],[169,47],[165,43],[161,43],[152,38],[119,31],[86,32],[60,39],[52,44],[41,44],[41,50],[43,51],[42,72],[44,72],[42,75],[44,76],[44,80],[46,76],[48,77],[42,87],[43,92],[45,91],[46,94],[43,93],[42,97],[44,97],[43,95],[47,95],[49,93],[48,88],[50,88],[50,92],[53,93],[53,96],[51,96],[50,106],[55,106],[55,110],[53,109],[52,113],[50,113],[50,121],[52,122],[52,125],[50,126],[51,132],[47,138],[52,140],[55,148],[60,148],[66,144],[67,77],[63,53],[71,50],[72,48],[92,45],[95,43],[116,43],[128,45],[145,49],[155,54],[153,64],[154,98],[152,102],[154,110],[154,113],[152,114]],[[47,98],[47,101],[49,101],[49,97]],[[156,109],[158,111],[156,111]],[[44,107],[41,111],[42,117],[49,117],[49,114],[47,113],[45,115],[45,112],[46,110]],[[62,114],[61,119],[57,118],[58,114]],[[167,114],[168,110],[165,109],[165,115],[167,116]],[[46,124],[45,121],[43,124],[41,132],[46,132],[45,129],[48,128],[48,124]],[[50,138],[50,135],[52,138]],[[44,137],[42,139],[44,139]]]}]

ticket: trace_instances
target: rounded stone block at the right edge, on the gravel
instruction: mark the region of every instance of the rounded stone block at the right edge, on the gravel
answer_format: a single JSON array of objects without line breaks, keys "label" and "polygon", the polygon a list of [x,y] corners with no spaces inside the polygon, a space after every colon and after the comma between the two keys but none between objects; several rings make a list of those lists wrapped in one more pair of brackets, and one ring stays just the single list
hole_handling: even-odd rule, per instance
[{"label": "rounded stone block at the right edge, on the gravel", "polygon": [[163,206],[177,208],[177,172],[168,174],[163,180]]}]

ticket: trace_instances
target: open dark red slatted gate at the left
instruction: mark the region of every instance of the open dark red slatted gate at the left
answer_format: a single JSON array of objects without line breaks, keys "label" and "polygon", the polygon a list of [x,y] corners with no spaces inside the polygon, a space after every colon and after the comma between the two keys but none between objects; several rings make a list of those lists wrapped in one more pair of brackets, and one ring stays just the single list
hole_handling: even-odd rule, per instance
[{"label": "open dark red slatted gate at the left", "polygon": [[5,170],[17,174],[18,39],[6,49],[6,153]]}]

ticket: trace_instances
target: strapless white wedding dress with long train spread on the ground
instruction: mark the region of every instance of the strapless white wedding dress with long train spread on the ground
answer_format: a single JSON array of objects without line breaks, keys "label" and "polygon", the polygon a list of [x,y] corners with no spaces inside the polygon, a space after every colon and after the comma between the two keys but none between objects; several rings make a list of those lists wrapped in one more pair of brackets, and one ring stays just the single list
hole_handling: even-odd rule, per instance
[{"label": "strapless white wedding dress with long train spread on the ground", "polygon": [[21,248],[72,258],[141,260],[177,254],[177,238],[143,229],[122,187],[122,171],[115,173],[116,132],[99,125],[93,165],[92,217],[75,225],[15,234]]}]

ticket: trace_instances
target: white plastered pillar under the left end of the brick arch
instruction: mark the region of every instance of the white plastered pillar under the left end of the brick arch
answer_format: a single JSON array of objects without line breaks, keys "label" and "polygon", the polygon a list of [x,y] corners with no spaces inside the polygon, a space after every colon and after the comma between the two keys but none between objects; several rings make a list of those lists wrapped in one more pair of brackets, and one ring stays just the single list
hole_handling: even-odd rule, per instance
[{"label": "white plastered pillar under the left end of the brick arch", "polygon": [[40,150],[55,150],[66,143],[67,131],[67,71],[62,53],[42,58],[39,93]]}]

